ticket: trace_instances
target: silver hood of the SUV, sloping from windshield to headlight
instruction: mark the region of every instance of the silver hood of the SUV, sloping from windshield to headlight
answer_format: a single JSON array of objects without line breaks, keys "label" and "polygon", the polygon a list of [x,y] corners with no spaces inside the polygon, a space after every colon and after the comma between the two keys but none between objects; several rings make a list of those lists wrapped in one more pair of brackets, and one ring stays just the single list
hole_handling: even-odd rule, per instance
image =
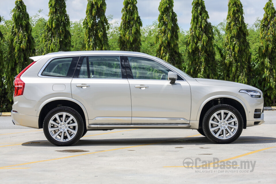
[{"label": "silver hood of the SUV, sloping from windshield to headlight", "polygon": [[215,79],[207,79],[207,78],[195,78],[196,81],[198,81],[201,84],[205,85],[216,85],[216,86],[231,86],[231,87],[239,87],[240,89],[247,89],[247,90],[255,90],[261,92],[256,87],[246,85],[246,84],[241,84],[241,83],[235,83],[235,82],[230,82],[230,81],[221,81],[221,80],[215,80]]}]

